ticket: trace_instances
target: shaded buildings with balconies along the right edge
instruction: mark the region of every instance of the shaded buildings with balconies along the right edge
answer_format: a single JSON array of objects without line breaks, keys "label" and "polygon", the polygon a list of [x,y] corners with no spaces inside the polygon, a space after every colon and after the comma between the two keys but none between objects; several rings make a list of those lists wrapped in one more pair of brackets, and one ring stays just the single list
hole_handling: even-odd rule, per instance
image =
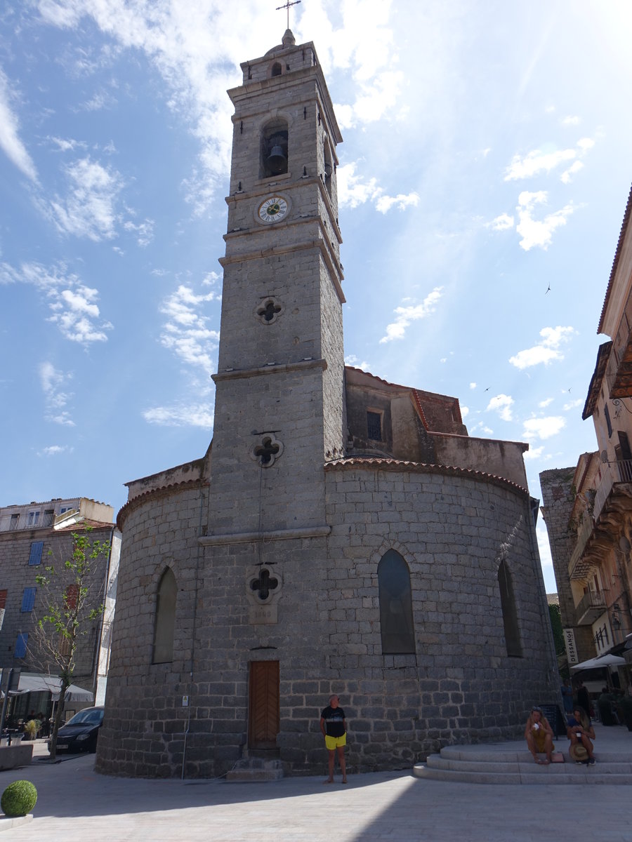
[{"label": "shaded buildings with balconies along the right edge", "polygon": [[[575,663],[606,653],[632,663],[632,192],[597,333],[582,418],[597,450],[575,468],[540,474],[562,621]],[[572,634],[570,634],[572,631]],[[627,648],[626,648],[627,647]]]}]

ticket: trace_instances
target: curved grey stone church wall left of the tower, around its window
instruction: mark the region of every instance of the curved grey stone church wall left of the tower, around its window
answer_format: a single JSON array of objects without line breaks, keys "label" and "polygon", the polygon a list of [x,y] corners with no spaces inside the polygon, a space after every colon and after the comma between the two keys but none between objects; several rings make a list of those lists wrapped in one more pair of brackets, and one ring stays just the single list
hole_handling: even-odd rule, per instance
[{"label": "curved grey stone church wall left of the tower, around its window", "polygon": [[[190,483],[147,494],[126,515],[104,724],[97,770],[112,775],[177,774],[188,709],[198,537],[207,487]],[[178,595],[174,662],[152,663],[158,583],[173,570]]]}]

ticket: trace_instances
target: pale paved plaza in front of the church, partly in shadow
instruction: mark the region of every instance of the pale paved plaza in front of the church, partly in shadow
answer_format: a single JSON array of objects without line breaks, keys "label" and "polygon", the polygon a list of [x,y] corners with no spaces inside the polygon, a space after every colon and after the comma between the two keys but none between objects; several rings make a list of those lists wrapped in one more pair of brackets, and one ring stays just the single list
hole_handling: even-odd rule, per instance
[{"label": "pale paved plaza in front of the church, partly in shadow", "polygon": [[[632,748],[623,727],[599,728],[596,749],[600,739]],[[629,786],[459,784],[409,772],[350,775],[347,786],[324,786],[324,775],[130,780],[96,775],[93,754],[35,759],[1,772],[0,786],[20,779],[37,787],[35,818],[2,842],[632,842]]]}]

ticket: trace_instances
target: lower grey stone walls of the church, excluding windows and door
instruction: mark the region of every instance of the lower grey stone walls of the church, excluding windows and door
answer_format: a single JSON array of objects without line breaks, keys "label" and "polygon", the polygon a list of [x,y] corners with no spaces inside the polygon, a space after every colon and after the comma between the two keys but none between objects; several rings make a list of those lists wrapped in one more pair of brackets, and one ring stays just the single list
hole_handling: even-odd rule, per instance
[{"label": "lower grey stone walls of the church, excluding windows and door", "polygon": [[[331,692],[340,695],[349,720],[348,763],[354,771],[404,768],[446,743],[515,738],[533,703],[557,701],[525,495],[506,484],[439,472],[332,466],[325,476],[329,537],[206,546],[190,685],[184,656],[190,652],[195,590],[196,501],[172,498],[130,516],[126,540],[136,537],[126,547],[121,592],[131,596],[115,624],[99,770],[179,775],[189,714],[185,776],[230,769],[248,742],[252,661],[280,663],[277,745],[293,774],[324,771],[319,713]],[[182,506],[180,527],[166,525],[153,544],[143,546],[174,504]],[[190,537],[173,558],[181,653],[169,669],[156,667],[149,663],[151,607],[168,555],[161,541],[186,530]],[[381,653],[377,568],[390,548],[410,567],[416,635],[411,655]],[[522,658],[506,655],[497,579],[501,555],[511,571]],[[253,621],[246,579],[261,563],[281,580],[276,621]],[[185,694],[188,709],[181,707]],[[122,733],[109,724],[117,717]]]}]

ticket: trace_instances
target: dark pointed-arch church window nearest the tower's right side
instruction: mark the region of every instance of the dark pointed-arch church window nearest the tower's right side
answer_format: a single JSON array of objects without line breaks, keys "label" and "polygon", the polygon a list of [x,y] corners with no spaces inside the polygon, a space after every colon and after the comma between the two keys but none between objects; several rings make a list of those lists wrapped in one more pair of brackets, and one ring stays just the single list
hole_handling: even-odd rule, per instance
[{"label": "dark pointed-arch church window nearest the tower's right side", "polygon": [[415,626],[408,564],[388,550],[378,564],[382,654],[415,653]]}]

